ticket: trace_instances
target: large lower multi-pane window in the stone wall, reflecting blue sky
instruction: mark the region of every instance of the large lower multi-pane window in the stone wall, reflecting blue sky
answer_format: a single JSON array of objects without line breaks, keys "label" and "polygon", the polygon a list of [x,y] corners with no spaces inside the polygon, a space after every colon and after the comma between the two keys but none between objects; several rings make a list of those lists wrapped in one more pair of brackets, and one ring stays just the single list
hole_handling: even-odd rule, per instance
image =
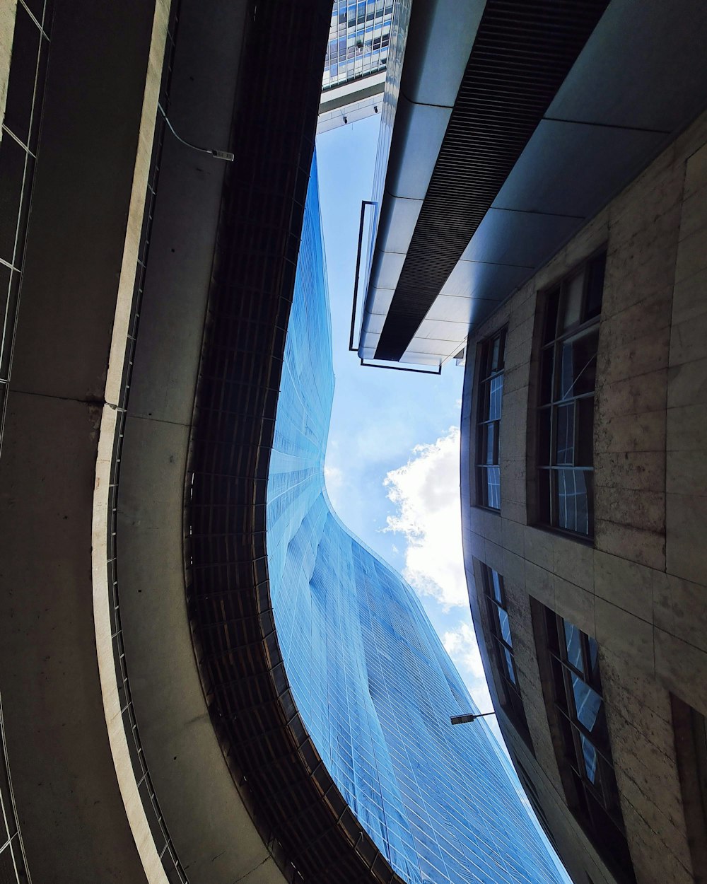
[{"label": "large lower multi-pane window in the stone wall, reflecting blue sky", "polygon": [[571,787],[567,802],[597,850],[618,863],[628,880],[635,880],[606,728],[597,642],[554,611],[539,607],[550,655],[551,705],[561,738],[559,766],[568,773],[565,781]]}]

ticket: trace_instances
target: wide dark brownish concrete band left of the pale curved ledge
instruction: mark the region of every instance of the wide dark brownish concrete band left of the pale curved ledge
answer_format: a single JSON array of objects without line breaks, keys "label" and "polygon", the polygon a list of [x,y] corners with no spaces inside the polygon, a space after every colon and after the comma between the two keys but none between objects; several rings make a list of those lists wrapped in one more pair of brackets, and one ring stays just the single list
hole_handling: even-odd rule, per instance
[{"label": "wide dark brownish concrete band left of the pale curved ledge", "polygon": [[57,2],[0,456],[0,690],[35,881],[148,880],[95,649],[95,464],[155,5]]}]

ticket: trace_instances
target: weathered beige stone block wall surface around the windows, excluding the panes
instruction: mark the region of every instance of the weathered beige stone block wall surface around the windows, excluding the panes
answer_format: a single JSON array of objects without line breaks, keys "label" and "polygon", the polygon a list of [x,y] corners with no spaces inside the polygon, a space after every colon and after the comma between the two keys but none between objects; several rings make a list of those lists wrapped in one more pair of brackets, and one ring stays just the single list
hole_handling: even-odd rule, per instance
[{"label": "weathered beige stone block wall surface around the windows, excluding the panes", "polygon": [[[536,527],[536,337],[542,293],[607,249],[595,400],[593,542]],[[541,293],[538,297],[538,293]],[[538,308],[540,308],[538,310]],[[501,509],[476,506],[477,345],[507,326]],[[612,876],[566,808],[530,598],[597,639],[627,841],[639,884],[695,880],[671,694],[707,714],[707,114],[470,336],[462,524],[477,632],[478,563],[504,575],[535,757],[501,713],[574,880]],[[476,578],[475,580],[473,578]],[[482,642],[484,644],[484,642]],[[489,648],[483,647],[490,667]],[[492,697],[496,702],[497,697]],[[707,831],[704,833],[707,838]]]}]

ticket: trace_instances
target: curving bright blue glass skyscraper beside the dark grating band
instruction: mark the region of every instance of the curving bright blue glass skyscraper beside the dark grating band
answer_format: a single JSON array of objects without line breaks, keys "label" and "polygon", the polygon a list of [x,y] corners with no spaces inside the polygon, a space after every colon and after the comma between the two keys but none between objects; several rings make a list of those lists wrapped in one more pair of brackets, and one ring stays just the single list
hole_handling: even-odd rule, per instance
[{"label": "curving bright blue glass skyscraper beside the dark grating band", "polygon": [[267,501],[270,591],[302,719],[338,789],[410,884],[565,880],[414,591],[324,487],[334,377],[314,164]]}]

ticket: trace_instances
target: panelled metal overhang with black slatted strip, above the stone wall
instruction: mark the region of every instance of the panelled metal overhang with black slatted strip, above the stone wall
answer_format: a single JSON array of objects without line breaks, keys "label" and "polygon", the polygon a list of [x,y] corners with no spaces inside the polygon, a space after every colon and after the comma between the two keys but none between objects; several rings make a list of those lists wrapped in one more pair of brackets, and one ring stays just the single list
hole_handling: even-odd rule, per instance
[{"label": "panelled metal overhang with black slatted strip, above the stone wall", "polygon": [[361,359],[457,354],[703,110],[705,34],[700,0],[414,7]]}]

